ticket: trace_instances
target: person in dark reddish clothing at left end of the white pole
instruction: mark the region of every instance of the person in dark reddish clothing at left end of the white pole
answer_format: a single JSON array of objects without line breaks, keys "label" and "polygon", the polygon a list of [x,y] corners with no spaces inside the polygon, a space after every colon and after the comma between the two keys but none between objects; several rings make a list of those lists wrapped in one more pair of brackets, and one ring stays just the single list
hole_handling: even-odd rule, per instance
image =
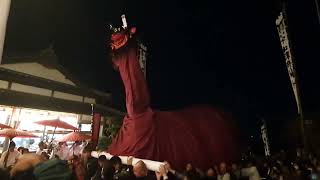
[{"label": "person in dark reddish clothing at left end of the white pole", "polygon": [[93,151],[92,145],[88,144],[82,151],[82,159],[86,170],[85,180],[91,180],[98,169],[98,160],[91,156]]}]

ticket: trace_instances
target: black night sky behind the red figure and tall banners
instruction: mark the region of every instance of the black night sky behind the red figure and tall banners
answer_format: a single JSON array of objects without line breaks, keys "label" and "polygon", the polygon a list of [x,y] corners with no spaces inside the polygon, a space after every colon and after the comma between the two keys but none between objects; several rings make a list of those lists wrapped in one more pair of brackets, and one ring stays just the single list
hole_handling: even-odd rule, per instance
[{"label": "black night sky behind the red figure and tall banners", "polygon": [[[296,117],[282,56],[276,0],[130,1],[12,0],[6,54],[53,44],[59,62],[84,84],[111,92],[124,108],[119,74],[107,48],[108,24],[125,13],[148,47],[152,106],[173,110],[211,104],[232,112],[247,135],[263,117],[274,132]],[[288,3],[303,108],[320,110],[319,24],[313,0]],[[319,116],[317,116],[319,117]],[[280,124],[280,125],[279,125]],[[276,133],[275,133],[276,134]]]}]

